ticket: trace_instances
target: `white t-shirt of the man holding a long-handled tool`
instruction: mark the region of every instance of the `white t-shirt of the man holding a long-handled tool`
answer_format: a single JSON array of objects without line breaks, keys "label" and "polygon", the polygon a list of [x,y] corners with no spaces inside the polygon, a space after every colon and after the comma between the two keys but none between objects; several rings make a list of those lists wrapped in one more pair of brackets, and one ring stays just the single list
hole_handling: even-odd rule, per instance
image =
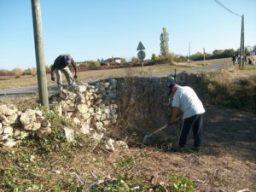
[{"label": "white t-shirt of the man holding a long-handled tool", "polygon": [[195,91],[189,86],[177,85],[172,107],[180,108],[183,111],[183,119],[206,112]]}]

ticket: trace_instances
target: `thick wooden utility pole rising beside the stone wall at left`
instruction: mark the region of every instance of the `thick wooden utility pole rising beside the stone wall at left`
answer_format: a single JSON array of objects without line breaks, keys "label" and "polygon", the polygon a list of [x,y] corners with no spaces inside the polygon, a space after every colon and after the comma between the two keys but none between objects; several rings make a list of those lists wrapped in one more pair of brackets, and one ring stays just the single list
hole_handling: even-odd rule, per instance
[{"label": "thick wooden utility pole rising beside the stone wall at left", "polygon": [[38,72],[38,93],[41,105],[49,108],[46,72],[44,67],[44,40],[41,21],[40,0],[31,0],[32,19],[34,28],[35,52]]}]

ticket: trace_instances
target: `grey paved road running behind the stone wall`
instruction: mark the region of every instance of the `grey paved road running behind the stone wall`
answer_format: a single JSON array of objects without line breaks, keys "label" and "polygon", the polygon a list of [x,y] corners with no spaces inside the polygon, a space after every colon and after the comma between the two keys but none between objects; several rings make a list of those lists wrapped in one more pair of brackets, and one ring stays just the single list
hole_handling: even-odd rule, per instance
[{"label": "grey paved road running behind the stone wall", "polygon": [[[224,63],[212,63],[211,65],[205,66],[205,67],[193,67],[193,68],[187,68],[186,70],[183,70],[187,73],[198,73],[202,71],[216,71],[221,67],[228,66],[228,64]],[[181,73],[177,72],[177,73]],[[154,73],[153,74],[155,77],[163,77],[166,75],[170,75],[170,72],[166,73]],[[95,81],[96,79],[94,79]],[[88,82],[88,80],[83,81],[83,82]],[[48,86],[49,90],[57,90],[57,85],[56,84],[49,84]],[[26,87],[20,87],[20,88],[14,88],[14,89],[6,89],[6,90],[0,90],[0,96],[20,96],[20,95],[34,95],[38,93],[38,86],[26,86]]]}]

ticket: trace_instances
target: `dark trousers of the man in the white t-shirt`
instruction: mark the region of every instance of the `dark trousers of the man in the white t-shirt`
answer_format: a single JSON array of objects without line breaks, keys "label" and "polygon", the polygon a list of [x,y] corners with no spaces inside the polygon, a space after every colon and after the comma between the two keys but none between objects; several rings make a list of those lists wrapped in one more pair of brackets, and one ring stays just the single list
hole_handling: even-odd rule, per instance
[{"label": "dark trousers of the man in the white t-shirt", "polygon": [[181,127],[180,137],[178,146],[183,148],[184,145],[187,143],[187,138],[189,136],[189,131],[192,128],[193,136],[194,136],[194,146],[200,147],[201,146],[201,135],[203,129],[203,117],[202,114],[196,114],[192,117],[183,119],[183,124]]}]

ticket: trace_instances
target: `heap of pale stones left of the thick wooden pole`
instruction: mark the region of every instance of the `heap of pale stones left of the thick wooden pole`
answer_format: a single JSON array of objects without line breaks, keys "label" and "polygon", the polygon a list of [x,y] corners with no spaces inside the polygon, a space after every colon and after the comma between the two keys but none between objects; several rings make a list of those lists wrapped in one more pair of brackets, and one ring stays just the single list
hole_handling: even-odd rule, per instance
[{"label": "heap of pale stones left of the thick wooden pole", "polygon": [[44,137],[51,132],[50,123],[41,110],[27,108],[22,113],[14,105],[0,105],[1,145],[13,147],[31,131],[36,131],[38,137]]}]

